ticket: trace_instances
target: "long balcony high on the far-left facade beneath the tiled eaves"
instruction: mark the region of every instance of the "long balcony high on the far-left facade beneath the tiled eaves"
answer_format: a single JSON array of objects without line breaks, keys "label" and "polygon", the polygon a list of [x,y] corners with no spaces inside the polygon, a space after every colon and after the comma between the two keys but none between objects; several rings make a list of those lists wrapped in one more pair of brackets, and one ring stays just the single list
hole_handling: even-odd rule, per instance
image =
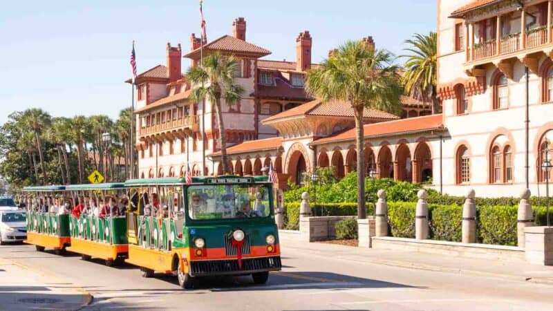
[{"label": "long balcony high on the far-left facade beneath the tiled eaves", "polygon": [[151,124],[140,127],[140,140],[171,140],[184,138],[191,132],[198,131],[198,115],[190,115],[180,119],[159,124]]}]

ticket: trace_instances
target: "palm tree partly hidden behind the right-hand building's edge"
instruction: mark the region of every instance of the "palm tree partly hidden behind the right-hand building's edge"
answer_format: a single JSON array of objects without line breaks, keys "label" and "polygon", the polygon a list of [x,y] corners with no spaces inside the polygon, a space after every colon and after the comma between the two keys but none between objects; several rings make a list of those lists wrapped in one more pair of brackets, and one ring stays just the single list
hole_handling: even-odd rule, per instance
[{"label": "palm tree partly hidden behind the right-hand building's edge", "polygon": [[422,100],[428,97],[432,100],[432,113],[440,113],[440,102],[436,94],[436,33],[430,32],[429,35],[413,35],[413,39],[404,41],[411,47],[406,48],[411,55],[402,55],[406,58],[404,64],[405,73],[402,77],[405,91],[413,92],[418,88],[422,95]]}]

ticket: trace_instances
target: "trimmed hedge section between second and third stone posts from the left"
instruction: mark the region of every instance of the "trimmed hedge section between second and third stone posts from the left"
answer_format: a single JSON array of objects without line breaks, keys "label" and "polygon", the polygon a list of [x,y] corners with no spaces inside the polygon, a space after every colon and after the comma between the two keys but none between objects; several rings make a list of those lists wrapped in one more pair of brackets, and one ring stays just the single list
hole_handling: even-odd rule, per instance
[{"label": "trimmed hedge section between second and third stone posts from the left", "polygon": [[430,205],[430,236],[433,240],[460,242],[462,237],[462,206]]}]

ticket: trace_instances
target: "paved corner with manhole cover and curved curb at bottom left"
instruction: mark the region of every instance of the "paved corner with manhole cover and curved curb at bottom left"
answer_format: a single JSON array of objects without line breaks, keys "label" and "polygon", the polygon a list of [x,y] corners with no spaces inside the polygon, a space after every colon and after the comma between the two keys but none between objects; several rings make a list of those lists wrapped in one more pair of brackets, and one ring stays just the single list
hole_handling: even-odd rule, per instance
[{"label": "paved corner with manhole cover and curved curb at bottom left", "polygon": [[78,310],[91,301],[55,276],[0,258],[0,310]]}]

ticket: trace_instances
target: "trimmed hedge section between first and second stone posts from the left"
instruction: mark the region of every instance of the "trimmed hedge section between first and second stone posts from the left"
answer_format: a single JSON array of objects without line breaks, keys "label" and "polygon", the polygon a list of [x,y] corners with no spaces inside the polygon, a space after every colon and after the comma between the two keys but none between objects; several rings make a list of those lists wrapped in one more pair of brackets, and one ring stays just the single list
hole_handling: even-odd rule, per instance
[{"label": "trimmed hedge section between first and second stone posts from the left", "polygon": [[415,237],[415,203],[388,202],[388,224],[392,236]]}]

